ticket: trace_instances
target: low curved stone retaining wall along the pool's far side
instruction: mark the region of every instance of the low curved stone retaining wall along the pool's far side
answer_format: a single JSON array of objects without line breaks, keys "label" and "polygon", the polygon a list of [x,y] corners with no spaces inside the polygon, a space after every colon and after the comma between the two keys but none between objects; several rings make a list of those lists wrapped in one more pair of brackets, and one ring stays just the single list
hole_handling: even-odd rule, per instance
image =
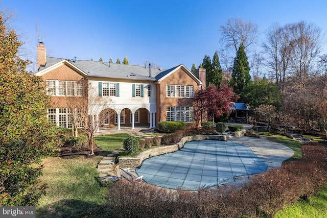
[{"label": "low curved stone retaining wall along the pool's far side", "polygon": [[225,135],[194,135],[194,136],[185,136],[177,144],[171,146],[162,146],[159,148],[150,149],[142,152],[137,155],[137,157],[121,157],[119,158],[119,166],[122,168],[125,167],[138,167],[142,164],[143,160],[152,157],[158,156],[161,154],[166,154],[170,152],[175,152],[184,147],[184,144],[188,141],[201,141],[201,140],[220,140],[226,141]]}]

